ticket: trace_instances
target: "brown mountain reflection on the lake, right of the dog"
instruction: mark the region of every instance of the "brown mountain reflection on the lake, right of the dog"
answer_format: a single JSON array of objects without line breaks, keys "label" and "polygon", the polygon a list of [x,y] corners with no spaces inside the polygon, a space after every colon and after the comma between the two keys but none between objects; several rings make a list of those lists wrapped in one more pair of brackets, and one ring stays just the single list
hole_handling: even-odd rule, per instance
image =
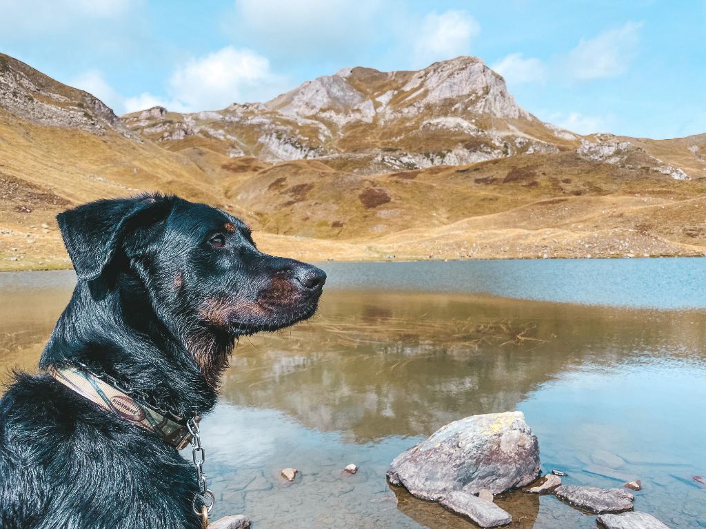
[{"label": "brown mountain reflection on the lake, right of the dog", "polygon": [[368,442],[514,409],[582,365],[704,365],[705,331],[702,312],[333,291],[321,317],[241,342],[223,394]]}]

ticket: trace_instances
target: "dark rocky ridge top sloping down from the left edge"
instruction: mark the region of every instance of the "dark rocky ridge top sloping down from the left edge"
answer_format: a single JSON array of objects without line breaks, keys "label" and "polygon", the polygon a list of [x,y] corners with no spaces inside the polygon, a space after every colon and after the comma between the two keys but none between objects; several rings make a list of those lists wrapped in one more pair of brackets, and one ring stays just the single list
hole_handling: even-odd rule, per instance
[{"label": "dark rocky ridge top sloping down from the left edge", "polygon": [[0,109],[40,125],[80,128],[95,134],[112,129],[137,138],[97,97],[4,54],[0,54]]}]

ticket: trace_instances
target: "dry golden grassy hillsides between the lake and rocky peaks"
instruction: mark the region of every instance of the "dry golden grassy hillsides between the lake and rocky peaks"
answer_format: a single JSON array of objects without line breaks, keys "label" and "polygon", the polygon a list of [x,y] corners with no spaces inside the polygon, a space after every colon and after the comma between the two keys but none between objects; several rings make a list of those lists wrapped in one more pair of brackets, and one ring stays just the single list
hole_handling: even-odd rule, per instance
[{"label": "dry golden grassy hillsides between the lake and rocky peaks", "polygon": [[675,181],[573,152],[361,176],[182,147],[0,111],[0,269],[70,266],[56,213],[150,190],[223,207],[252,224],[263,250],[302,260],[706,253],[705,178]]}]

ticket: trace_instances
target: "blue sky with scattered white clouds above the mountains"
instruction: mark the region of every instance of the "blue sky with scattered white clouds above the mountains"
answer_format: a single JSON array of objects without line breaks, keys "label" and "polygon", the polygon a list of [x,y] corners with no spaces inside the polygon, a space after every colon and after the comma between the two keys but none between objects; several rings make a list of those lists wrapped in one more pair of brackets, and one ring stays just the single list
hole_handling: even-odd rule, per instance
[{"label": "blue sky with scattered white clouds above the mountains", "polygon": [[706,133],[706,0],[0,0],[0,51],[122,114],[264,101],[345,66],[475,55],[579,133]]}]

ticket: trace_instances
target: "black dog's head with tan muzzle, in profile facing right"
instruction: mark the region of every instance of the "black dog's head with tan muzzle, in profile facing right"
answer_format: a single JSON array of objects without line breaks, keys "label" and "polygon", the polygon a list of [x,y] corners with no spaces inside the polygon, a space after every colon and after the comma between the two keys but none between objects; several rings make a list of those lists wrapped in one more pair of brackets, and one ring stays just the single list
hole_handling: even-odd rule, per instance
[{"label": "black dog's head with tan muzzle, in profile facing right", "polygon": [[326,279],[317,267],[259,251],[232,215],[179,197],[100,200],[57,220],[79,281],[134,276],[197,360],[214,338],[232,343],[311,317]]}]

